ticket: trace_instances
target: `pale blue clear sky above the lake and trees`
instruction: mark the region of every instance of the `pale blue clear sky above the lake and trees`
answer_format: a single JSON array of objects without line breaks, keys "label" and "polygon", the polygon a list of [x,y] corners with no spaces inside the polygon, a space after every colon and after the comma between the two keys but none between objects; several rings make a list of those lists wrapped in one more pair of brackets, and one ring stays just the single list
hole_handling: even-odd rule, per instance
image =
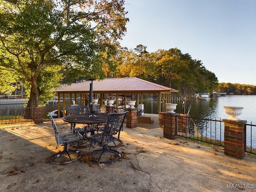
[{"label": "pale blue clear sky above the lake and trees", "polygon": [[178,48],[219,83],[256,85],[256,0],[125,0],[125,10],[122,47]]}]

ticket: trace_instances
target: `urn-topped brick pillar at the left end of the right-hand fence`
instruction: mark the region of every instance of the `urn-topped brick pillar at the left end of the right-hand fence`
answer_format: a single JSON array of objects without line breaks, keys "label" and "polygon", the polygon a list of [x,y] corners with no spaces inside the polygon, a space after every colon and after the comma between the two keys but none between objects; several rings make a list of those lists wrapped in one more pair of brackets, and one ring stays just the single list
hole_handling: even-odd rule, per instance
[{"label": "urn-topped brick pillar at the left end of the right-hand fence", "polygon": [[175,140],[178,138],[176,133],[176,116],[178,113],[159,113],[159,127],[164,130],[164,138]]}]

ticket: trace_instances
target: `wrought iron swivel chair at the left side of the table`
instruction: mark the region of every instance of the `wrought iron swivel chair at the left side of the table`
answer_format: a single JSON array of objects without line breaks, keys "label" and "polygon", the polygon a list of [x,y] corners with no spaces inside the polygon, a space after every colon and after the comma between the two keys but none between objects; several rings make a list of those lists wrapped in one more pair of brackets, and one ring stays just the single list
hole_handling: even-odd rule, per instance
[{"label": "wrought iron swivel chair at the left side of the table", "polygon": [[[72,130],[58,130],[56,123],[54,122],[54,119],[50,112],[48,113],[50,120],[52,122],[52,127],[55,132],[55,139],[57,142],[57,145],[60,144],[64,145],[64,150],[61,152],[57,152],[56,154],[52,155],[50,157],[50,162],[53,164],[68,164],[70,162],[73,162],[75,160],[78,160],[81,157],[81,153],[77,150],[71,150],[68,148],[68,144],[74,141],[81,140],[82,137],[78,134],[78,130],[80,128],[72,129]],[[66,155],[68,158],[66,158]],[[56,161],[56,158],[61,157],[59,159],[62,159],[60,162]],[[74,157],[73,157],[74,156]],[[64,158],[64,160],[63,160]]]}]

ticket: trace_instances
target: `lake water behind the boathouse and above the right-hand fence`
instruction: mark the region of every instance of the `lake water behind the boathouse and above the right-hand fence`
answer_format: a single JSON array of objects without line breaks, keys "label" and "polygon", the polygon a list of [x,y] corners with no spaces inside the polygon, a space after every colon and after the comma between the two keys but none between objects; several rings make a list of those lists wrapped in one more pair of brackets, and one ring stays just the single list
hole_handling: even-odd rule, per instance
[{"label": "lake water behind the boathouse and above the right-hand fence", "polygon": [[[70,100],[66,100],[66,107]],[[172,103],[177,103],[175,112],[183,113],[182,101],[172,100]],[[158,114],[158,101],[143,100],[144,112]],[[211,98],[210,100],[188,99],[185,102],[185,111],[188,113],[188,108],[191,105],[190,116],[199,118],[216,118],[225,119],[229,116],[225,113],[224,106],[244,107],[242,114],[238,116],[240,120],[247,120],[249,124],[256,124],[256,95],[232,95],[224,97]],[[62,103],[60,104],[62,108]],[[162,106],[161,106],[162,107]],[[48,112],[58,109],[58,104],[47,104],[44,107],[44,117],[47,118]]]}]

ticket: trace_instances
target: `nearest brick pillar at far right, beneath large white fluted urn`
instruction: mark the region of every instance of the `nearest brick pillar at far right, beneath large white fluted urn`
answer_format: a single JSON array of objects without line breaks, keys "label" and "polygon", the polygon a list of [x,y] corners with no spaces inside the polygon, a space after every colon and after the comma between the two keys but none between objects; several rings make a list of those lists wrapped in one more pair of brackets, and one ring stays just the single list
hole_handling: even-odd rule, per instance
[{"label": "nearest brick pillar at far right, beneath large white fluted urn", "polygon": [[224,122],[224,154],[238,159],[245,156],[245,124],[244,120],[228,120]]}]

